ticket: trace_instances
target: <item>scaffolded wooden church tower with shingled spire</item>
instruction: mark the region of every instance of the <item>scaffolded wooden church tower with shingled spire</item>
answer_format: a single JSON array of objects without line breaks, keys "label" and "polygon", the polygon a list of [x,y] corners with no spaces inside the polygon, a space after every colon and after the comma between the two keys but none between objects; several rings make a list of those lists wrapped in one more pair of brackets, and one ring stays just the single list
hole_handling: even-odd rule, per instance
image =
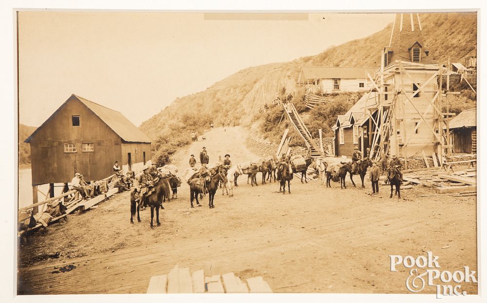
[{"label": "scaffolded wooden church tower with shingled spire", "polygon": [[[377,111],[374,124],[375,158],[390,153],[399,157],[432,156],[441,159],[448,148],[449,113],[442,112],[443,68],[429,56],[418,14],[396,14],[389,46],[381,52],[375,81]],[[438,80],[440,85],[438,85]],[[448,92],[447,92],[448,93]],[[375,125],[375,127],[374,127]]]}]

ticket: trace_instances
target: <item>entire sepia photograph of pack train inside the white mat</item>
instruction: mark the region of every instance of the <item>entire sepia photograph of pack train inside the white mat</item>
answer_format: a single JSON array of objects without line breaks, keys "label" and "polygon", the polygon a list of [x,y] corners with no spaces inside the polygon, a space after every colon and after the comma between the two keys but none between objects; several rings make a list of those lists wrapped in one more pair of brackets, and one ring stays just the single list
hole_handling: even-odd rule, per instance
[{"label": "entire sepia photograph of pack train inside the white mat", "polygon": [[480,294],[478,9],[13,14],[18,297]]}]

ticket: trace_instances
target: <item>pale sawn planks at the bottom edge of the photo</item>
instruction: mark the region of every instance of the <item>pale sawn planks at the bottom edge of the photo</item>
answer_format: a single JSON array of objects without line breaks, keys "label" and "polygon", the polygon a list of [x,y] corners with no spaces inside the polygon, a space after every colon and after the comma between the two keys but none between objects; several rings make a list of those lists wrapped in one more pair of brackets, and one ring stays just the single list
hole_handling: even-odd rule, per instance
[{"label": "pale sawn planks at the bottom edge of the photo", "polygon": [[148,294],[164,293],[270,293],[271,288],[262,277],[242,282],[233,272],[205,277],[203,269],[194,271],[176,265],[167,275],[152,276]]}]

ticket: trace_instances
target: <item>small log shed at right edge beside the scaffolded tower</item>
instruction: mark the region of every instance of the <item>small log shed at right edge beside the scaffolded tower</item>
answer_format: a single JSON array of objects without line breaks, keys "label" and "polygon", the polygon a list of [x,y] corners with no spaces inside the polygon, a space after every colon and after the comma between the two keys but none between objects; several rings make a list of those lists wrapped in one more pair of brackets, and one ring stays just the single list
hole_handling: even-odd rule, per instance
[{"label": "small log shed at right edge beside the scaffolded tower", "polygon": [[450,121],[450,141],[455,153],[477,153],[477,110],[467,109]]}]

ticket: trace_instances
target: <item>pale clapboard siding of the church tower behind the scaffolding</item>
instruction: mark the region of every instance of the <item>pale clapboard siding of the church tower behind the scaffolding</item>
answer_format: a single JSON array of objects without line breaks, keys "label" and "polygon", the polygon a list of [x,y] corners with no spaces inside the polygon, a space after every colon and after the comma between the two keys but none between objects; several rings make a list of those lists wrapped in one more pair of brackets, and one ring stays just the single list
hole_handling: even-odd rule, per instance
[{"label": "pale clapboard siding of the church tower behind the scaffolding", "polygon": [[[435,71],[425,70],[409,71],[411,77],[420,86],[426,83],[434,72]],[[401,85],[402,81],[404,82],[404,85]],[[402,86],[408,96],[410,96],[413,92],[412,80],[407,76],[403,76],[401,79],[401,75],[395,75],[393,80],[390,80],[388,84],[394,85],[394,83],[396,85],[396,90],[401,89]],[[431,107],[430,110],[426,111],[430,106],[430,102],[425,97],[427,96],[430,100],[432,100],[435,95],[435,93],[432,91],[438,90],[438,85],[435,81],[430,81],[423,90],[426,92],[421,92],[419,97],[410,97],[410,99],[412,100],[414,106],[421,112],[421,114],[423,114],[427,120],[427,123],[421,119],[416,109],[414,109],[411,102],[406,96],[404,96],[404,94],[397,95],[395,114],[391,119],[393,133],[390,138],[391,155],[396,154],[402,157],[412,157],[421,154],[422,150],[424,150],[426,155],[431,155],[433,151],[436,152],[436,138],[428,125],[430,125],[430,127],[435,131],[438,126],[437,124],[435,125],[434,108]],[[437,103],[437,101],[435,103]],[[405,115],[403,115],[403,109]],[[413,133],[416,123],[420,122],[421,124],[419,125],[417,133]],[[406,143],[411,136],[412,138],[407,146],[402,148],[399,144]]]}]

